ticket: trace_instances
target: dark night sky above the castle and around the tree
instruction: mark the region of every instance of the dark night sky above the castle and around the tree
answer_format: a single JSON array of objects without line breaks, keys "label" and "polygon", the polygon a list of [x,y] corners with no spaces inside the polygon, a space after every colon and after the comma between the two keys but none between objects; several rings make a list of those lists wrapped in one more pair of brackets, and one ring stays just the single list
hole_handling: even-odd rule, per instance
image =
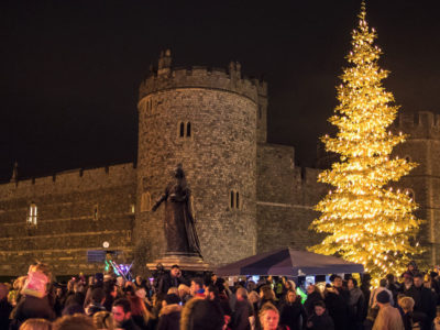
[{"label": "dark night sky above the castle and around the tree", "polygon": [[[135,160],[138,87],[168,47],[176,66],[238,61],[263,76],[270,142],[294,145],[297,162],[311,165],[360,2],[3,0],[0,180],[15,160],[21,177]],[[435,4],[367,1],[402,111],[440,112]]]}]

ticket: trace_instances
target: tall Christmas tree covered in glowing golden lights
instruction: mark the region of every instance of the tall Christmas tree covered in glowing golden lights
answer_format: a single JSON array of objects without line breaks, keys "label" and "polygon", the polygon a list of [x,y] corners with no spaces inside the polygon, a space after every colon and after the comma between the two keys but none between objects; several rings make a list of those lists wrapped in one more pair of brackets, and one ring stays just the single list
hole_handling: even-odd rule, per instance
[{"label": "tall Christmas tree covered in glowing golden lights", "polygon": [[316,206],[321,216],[310,226],[328,235],[310,250],[362,263],[377,279],[387,273],[400,275],[421,252],[416,239],[421,220],[413,215],[417,205],[407,191],[387,187],[417,164],[391,156],[406,136],[387,131],[398,107],[391,105],[394,97],[382,86],[388,72],[377,64],[382,52],[365,14],[363,3],[346,56],[350,66],[337,88],[339,106],[329,119],[338,128],[337,136],[321,139],[340,162],[319,175],[319,182],[334,188]]}]

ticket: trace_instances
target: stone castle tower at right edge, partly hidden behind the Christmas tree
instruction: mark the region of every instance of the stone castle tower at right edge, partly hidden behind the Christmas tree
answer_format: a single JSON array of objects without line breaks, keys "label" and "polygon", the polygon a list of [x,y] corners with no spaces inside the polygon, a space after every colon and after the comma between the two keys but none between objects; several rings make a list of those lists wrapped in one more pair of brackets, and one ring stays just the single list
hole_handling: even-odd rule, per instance
[{"label": "stone castle tower at right edge, partly hidden behind the Christmas tree", "polygon": [[440,263],[440,116],[428,111],[400,113],[394,128],[409,134],[395,148],[395,154],[419,164],[396,186],[409,188],[419,205],[416,215],[427,222],[420,229],[420,243],[429,264]]}]

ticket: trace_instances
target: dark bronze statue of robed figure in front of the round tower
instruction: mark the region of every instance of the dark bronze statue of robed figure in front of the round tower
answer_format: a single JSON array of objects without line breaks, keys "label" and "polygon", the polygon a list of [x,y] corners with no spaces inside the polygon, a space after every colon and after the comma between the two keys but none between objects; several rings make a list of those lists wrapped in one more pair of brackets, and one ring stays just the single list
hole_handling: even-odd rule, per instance
[{"label": "dark bronze statue of robed figure in front of the round tower", "polygon": [[155,211],[165,201],[166,254],[201,257],[191,212],[190,190],[180,164],[174,170],[174,178],[152,209]]}]

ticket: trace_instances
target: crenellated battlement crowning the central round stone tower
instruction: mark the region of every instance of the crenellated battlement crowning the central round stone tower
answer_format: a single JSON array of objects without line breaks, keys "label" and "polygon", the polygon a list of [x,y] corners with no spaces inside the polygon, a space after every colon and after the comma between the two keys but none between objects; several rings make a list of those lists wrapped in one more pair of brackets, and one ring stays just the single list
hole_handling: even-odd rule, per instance
[{"label": "crenellated battlement crowning the central round stone tower", "polygon": [[228,70],[206,66],[173,68],[170,64],[170,52],[162,53],[158,69],[151,72],[141,84],[140,100],[150,94],[177,88],[222,89],[240,94],[254,102],[257,102],[258,95],[267,96],[267,84],[242,76],[240,63],[231,62]]}]

